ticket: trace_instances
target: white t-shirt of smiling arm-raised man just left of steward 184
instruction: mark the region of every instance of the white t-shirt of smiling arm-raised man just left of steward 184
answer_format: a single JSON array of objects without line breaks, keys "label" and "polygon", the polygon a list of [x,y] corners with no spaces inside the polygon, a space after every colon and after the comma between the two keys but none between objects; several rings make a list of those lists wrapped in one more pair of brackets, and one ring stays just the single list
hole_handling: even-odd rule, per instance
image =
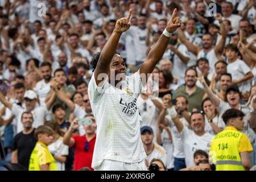
[{"label": "white t-shirt of smiling arm-raised man just left of steward 184", "polygon": [[199,136],[193,130],[188,129],[188,127],[183,127],[180,137],[183,142],[186,166],[191,167],[195,166],[193,161],[195,151],[203,150],[209,154],[210,144],[214,136],[207,132]]}]

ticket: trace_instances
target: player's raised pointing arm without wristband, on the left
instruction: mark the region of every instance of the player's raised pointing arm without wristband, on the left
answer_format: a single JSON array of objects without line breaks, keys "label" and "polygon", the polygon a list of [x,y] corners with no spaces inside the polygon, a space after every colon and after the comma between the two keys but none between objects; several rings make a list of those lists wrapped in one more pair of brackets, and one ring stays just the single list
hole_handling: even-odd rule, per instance
[{"label": "player's raised pointing arm without wristband, on the left", "polygon": [[102,81],[97,78],[98,75],[101,73],[106,73],[103,77],[105,79],[106,75],[109,72],[109,65],[114,56],[115,50],[117,49],[117,44],[122,35],[122,32],[127,31],[131,26],[131,24],[129,23],[130,17],[131,10],[129,10],[127,17],[117,20],[112,35],[110,36],[108,42],[105,44],[104,48],[101,51],[100,59],[98,60],[97,67],[94,71],[94,77],[97,85],[100,84],[100,82]]}]

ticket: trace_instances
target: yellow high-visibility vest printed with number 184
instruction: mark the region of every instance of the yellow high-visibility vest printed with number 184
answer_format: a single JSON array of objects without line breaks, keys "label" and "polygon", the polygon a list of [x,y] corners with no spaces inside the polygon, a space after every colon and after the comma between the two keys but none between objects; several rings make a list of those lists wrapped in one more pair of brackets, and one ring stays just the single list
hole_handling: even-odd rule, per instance
[{"label": "yellow high-visibility vest printed with number 184", "polygon": [[242,133],[225,129],[212,140],[210,155],[216,171],[245,171],[238,151]]}]

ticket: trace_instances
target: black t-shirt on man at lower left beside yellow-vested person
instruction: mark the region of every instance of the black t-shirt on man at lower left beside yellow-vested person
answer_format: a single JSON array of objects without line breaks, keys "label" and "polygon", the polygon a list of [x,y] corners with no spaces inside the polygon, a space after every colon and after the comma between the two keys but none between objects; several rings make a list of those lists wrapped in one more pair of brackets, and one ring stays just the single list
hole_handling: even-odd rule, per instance
[{"label": "black t-shirt on man at lower left beside yellow-vested person", "polygon": [[18,149],[18,163],[28,168],[30,155],[35,147],[35,129],[30,134],[18,133],[14,137],[13,150]]}]

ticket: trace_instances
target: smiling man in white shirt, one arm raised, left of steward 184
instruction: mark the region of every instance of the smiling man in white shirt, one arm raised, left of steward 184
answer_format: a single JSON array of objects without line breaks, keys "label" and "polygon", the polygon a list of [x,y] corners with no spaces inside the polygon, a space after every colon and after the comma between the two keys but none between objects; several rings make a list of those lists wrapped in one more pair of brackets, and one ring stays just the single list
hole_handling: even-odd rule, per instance
[{"label": "smiling man in white shirt, one arm raised, left of steward 184", "polygon": [[193,154],[195,151],[203,150],[209,153],[210,143],[213,139],[213,135],[204,130],[204,114],[201,111],[192,112],[190,116],[191,129],[189,129],[187,126],[183,125],[183,122],[180,121],[175,107],[172,105],[171,94],[164,96],[164,104],[168,104],[168,115],[171,115],[172,121],[180,134],[181,141],[183,142],[183,147],[185,149],[185,164],[187,167],[194,166]]}]

